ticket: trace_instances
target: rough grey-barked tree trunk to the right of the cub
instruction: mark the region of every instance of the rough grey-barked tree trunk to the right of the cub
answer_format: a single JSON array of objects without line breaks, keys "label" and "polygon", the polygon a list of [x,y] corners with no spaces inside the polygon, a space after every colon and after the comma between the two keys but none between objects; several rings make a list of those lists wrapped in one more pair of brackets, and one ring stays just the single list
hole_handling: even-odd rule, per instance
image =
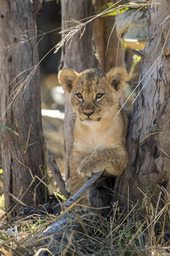
[{"label": "rough grey-barked tree trunk to the right of the cub", "polygon": [[134,201],[164,185],[170,191],[170,20],[169,1],[149,7],[150,24],[144,49],[138,98],[130,119],[127,149],[130,163],[116,178],[115,190]]}]

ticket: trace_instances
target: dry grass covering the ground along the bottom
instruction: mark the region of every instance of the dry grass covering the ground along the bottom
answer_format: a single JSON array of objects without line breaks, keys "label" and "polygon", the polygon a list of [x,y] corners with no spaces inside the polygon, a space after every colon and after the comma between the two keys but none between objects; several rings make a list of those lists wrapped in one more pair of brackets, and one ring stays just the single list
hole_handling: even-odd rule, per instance
[{"label": "dry grass covering the ground along the bottom", "polygon": [[[115,202],[107,217],[66,210],[66,223],[60,233],[50,233],[48,239],[42,233],[63,213],[31,215],[4,223],[0,232],[1,255],[46,255],[45,251],[47,255],[86,256],[170,254],[170,200],[166,190],[143,193],[141,203],[129,205],[125,210]],[[13,234],[9,235],[7,228],[13,228]]]}]

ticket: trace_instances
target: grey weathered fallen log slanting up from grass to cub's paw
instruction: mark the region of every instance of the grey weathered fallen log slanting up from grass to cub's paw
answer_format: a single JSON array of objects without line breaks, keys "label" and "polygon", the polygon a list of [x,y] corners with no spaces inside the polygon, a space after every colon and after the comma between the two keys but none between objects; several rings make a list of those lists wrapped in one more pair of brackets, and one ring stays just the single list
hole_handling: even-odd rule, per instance
[{"label": "grey weathered fallen log slanting up from grass to cub's paw", "polygon": [[[23,255],[46,256],[48,253],[60,255],[70,247],[71,241],[79,237],[80,232],[83,234],[90,226],[93,228],[92,219],[95,218],[95,213],[84,213],[83,211],[76,213],[74,211],[71,212],[70,209],[79,200],[79,197],[96,182],[102,173],[103,171],[100,171],[94,176],[91,176],[83,187],[63,204],[67,207],[66,210],[57,216],[57,220],[51,223],[36,240],[32,240],[27,248],[27,252],[24,251]],[[32,250],[34,253],[32,253]]]}]

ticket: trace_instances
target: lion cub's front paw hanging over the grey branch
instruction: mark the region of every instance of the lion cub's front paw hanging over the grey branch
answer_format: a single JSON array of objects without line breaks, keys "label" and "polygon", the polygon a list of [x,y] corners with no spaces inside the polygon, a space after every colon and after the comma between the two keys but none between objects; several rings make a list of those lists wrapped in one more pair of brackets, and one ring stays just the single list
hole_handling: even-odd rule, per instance
[{"label": "lion cub's front paw hanging over the grey branch", "polygon": [[104,164],[91,157],[84,158],[78,167],[79,174],[87,177],[99,171],[104,171]]}]

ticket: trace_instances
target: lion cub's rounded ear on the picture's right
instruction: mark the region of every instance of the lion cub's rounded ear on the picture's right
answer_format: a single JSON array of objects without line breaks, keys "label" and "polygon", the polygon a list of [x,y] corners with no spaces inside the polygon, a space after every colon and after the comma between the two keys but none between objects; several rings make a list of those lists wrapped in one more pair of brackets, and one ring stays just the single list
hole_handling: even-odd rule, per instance
[{"label": "lion cub's rounded ear on the picture's right", "polygon": [[107,74],[106,80],[117,91],[125,89],[125,80],[127,80],[127,72],[124,67],[113,67]]}]

